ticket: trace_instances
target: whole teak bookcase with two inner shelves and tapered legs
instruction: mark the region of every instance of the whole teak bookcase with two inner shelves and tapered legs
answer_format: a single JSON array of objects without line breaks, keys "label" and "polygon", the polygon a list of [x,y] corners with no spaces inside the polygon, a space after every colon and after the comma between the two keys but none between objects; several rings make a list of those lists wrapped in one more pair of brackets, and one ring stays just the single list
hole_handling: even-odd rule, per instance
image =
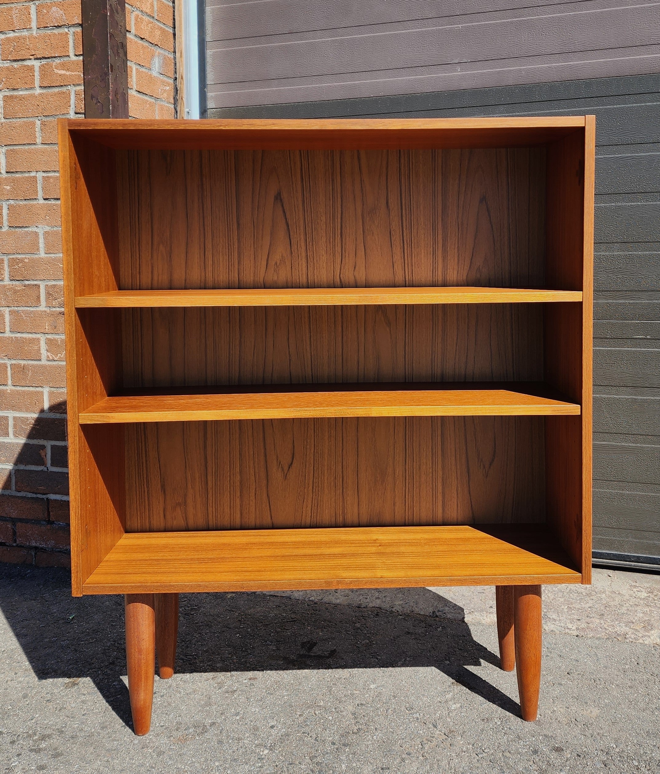
[{"label": "whole teak bookcase with two inner shelves and tapered legs", "polygon": [[594,119],[60,121],[73,593],[590,583]]}]

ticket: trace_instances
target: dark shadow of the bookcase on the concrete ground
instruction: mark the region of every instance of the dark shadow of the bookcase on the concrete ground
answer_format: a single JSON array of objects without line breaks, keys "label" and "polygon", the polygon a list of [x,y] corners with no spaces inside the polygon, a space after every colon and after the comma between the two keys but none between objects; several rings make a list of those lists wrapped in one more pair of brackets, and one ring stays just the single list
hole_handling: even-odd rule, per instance
[{"label": "dark shadow of the bookcase on the concrete ground", "polygon": [[[518,704],[466,669],[482,660],[499,665],[499,658],[473,639],[461,608],[446,599],[443,607],[450,618],[270,594],[182,594],[176,671],[431,666],[518,715]],[[0,565],[0,608],[39,680],[88,677],[121,721],[132,725],[121,680],[121,596],[72,598],[65,570]]]}]

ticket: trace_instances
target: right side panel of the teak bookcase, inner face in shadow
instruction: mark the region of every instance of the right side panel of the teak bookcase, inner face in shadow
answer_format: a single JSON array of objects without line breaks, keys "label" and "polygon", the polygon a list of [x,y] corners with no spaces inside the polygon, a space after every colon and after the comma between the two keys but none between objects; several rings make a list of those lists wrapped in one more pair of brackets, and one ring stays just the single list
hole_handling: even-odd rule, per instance
[{"label": "right side panel of the teak bookcase, inner face in shadow", "polygon": [[[592,160],[593,169],[593,160]],[[546,264],[548,286],[583,290],[585,287],[585,188],[588,174],[585,132],[580,130],[552,143],[547,156]],[[586,183],[586,184],[585,184]],[[593,212],[593,203],[592,203]],[[593,217],[593,215],[592,215]],[[590,577],[590,488],[583,475],[589,464],[585,423],[590,423],[590,388],[584,361],[591,342],[584,334],[582,303],[545,304],[545,380],[582,407],[580,417],[548,417],[545,420],[547,519],[566,553]],[[590,375],[588,376],[590,378]]]}]

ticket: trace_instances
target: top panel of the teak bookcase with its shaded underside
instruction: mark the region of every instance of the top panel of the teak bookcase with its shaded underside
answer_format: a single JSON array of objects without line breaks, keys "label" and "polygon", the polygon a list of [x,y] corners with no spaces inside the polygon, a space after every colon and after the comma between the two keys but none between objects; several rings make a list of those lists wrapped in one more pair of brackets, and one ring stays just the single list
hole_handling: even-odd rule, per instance
[{"label": "top panel of the teak bookcase with its shaded underside", "polygon": [[74,137],[118,149],[500,148],[553,142],[584,116],[330,120],[60,119]]}]

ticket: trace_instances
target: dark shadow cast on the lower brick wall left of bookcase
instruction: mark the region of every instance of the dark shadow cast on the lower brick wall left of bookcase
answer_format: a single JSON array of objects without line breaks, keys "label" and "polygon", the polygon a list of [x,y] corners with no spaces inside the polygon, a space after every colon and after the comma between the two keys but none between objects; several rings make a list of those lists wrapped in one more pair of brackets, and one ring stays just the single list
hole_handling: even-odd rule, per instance
[{"label": "dark shadow cast on the lower brick wall left of bookcase", "polygon": [[0,562],[70,566],[67,404],[12,416],[0,440]]}]

